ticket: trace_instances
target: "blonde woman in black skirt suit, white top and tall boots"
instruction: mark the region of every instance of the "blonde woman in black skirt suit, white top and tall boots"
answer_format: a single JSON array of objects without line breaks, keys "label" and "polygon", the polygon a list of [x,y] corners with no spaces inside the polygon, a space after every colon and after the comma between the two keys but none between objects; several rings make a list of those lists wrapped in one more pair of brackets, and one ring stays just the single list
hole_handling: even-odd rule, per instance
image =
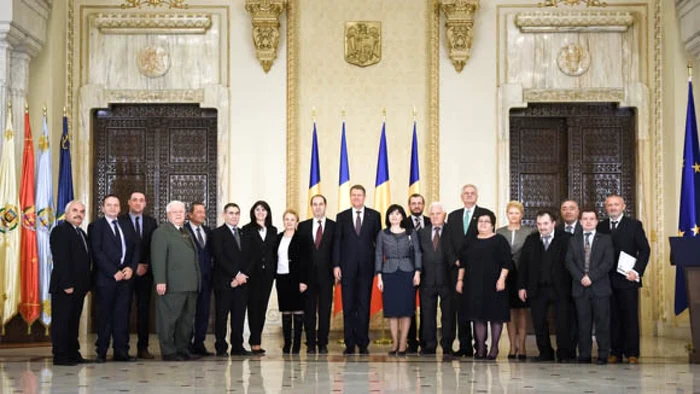
[{"label": "blonde woman in black skirt suit, white top and tall boots", "polygon": [[[282,353],[299,354],[301,348],[301,331],[304,322],[304,297],[306,291],[307,269],[299,258],[300,242],[296,235],[299,217],[291,209],[282,216],[284,231],[277,236],[277,303],[282,313],[282,332],[284,346]],[[294,323],[292,325],[292,322]],[[292,328],[293,327],[293,328]],[[292,330],[294,344],[292,345]]]}]

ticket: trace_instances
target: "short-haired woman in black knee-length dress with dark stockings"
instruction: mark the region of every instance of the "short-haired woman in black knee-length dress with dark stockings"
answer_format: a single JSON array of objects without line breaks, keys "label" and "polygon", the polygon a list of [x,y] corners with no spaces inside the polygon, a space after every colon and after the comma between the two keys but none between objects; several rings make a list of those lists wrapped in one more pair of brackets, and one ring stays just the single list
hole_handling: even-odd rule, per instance
[{"label": "short-haired woman in black knee-length dress with dark stockings", "polygon": [[[510,321],[506,277],[513,262],[508,241],[494,229],[496,216],[489,212],[477,218],[478,234],[459,251],[462,266],[457,292],[462,294],[461,318],[474,323],[476,359],[495,360],[503,323]],[[464,282],[466,281],[466,284]],[[466,286],[466,287],[465,287]],[[463,293],[462,289],[466,289]],[[491,350],[486,355],[486,323],[491,325]]]}]

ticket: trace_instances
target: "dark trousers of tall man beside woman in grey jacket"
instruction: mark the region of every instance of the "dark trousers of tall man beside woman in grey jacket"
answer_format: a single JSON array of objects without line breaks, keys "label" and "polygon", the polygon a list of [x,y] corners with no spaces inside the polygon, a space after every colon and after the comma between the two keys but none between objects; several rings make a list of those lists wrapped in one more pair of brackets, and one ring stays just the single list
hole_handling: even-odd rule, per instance
[{"label": "dark trousers of tall man beside woman in grey jacket", "polygon": [[372,298],[373,276],[358,273],[342,276],[343,334],[345,346],[369,346],[369,304]]}]

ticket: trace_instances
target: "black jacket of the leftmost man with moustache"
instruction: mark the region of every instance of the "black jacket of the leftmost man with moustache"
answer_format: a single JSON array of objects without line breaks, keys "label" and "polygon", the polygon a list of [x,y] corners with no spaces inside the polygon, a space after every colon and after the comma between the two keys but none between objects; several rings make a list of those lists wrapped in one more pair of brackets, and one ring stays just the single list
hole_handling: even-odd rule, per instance
[{"label": "black jacket of the leftmost man with moustache", "polygon": [[53,269],[49,291],[53,294],[71,287],[76,294],[90,291],[92,278],[90,253],[85,249],[86,245],[80,239],[78,231],[85,237],[85,243],[89,249],[90,242],[87,234],[80,227],[76,229],[72,224],[64,221],[51,230],[49,244],[53,256]]}]

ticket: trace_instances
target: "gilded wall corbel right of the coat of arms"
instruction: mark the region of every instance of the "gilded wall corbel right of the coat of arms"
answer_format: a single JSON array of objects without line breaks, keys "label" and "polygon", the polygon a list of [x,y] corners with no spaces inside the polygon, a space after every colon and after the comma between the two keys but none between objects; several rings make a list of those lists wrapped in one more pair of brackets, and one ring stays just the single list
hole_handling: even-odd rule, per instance
[{"label": "gilded wall corbel right of the coat of arms", "polygon": [[440,9],[447,21],[446,44],[452,64],[462,72],[470,57],[474,36],[474,13],[479,9],[479,0],[441,0]]}]

